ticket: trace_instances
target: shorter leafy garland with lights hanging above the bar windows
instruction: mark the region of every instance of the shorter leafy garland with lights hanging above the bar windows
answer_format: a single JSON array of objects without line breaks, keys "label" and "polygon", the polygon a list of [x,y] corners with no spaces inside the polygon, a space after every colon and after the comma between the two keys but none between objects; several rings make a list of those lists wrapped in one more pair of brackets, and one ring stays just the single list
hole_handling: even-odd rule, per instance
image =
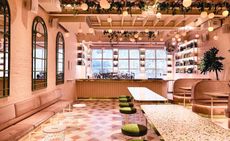
[{"label": "shorter leafy garland with lights hanging above the bar windows", "polygon": [[104,31],[104,35],[106,35],[110,42],[118,42],[120,38],[122,40],[130,40],[131,42],[138,41],[139,37],[147,37],[149,40],[154,40],[156,38],[157,32],[148,31],[148,32],[137,32],[137,31]]}]

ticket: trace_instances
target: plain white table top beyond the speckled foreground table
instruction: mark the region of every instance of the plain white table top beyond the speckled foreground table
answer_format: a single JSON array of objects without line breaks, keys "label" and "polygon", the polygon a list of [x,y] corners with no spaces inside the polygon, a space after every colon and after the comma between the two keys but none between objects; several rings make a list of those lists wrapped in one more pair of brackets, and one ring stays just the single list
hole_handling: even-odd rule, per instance
[{"label": "plain white table top beyond the speckled foreground table", "polygon": [[134,100],[140,102],[166,102],[167,99],[163,96],[151,91],[146,87],[128,87],[129,92]]}]

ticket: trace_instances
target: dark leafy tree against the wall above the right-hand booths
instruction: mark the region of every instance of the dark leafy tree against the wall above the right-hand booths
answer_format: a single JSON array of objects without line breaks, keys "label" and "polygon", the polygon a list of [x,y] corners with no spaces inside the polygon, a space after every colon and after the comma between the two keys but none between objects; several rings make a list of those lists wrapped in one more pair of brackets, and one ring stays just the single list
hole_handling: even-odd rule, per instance
[{"label": "dark leafy tree against the wall above the right-hand booths", "polygon": [[216,73],[216,80],[219,80],[218,72],[224,70],[224,65],[221,61],[225,59],[222,56],[217,56],[218,52],[219,50],[217,48],[211,48],[204,53],[201,63],[199,64],[201,74],[213,71]]}]

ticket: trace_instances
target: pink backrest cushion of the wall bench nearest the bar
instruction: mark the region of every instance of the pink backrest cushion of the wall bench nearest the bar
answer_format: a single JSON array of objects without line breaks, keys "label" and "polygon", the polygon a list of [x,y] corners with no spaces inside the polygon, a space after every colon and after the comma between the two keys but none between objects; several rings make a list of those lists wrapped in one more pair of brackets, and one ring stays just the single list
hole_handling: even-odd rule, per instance
[{"label": "pink backrest cushion of the wall bench nearest the bar", "polygon": [[54,91],[42,94],[40,95],[41,105],[45,105],[47,103],[53,103],[57,101],[58,98],[60,98],[60,96],[58,96],[58,94],[56,94]]}]

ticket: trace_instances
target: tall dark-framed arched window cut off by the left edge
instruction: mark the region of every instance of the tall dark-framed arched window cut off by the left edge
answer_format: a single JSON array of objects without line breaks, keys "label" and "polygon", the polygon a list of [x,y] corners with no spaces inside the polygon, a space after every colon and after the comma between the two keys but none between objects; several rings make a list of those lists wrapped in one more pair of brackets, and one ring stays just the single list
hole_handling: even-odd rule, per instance
[{"label": "tall dark-framed arched window cut off by the left edge", "polygon": [[10,85],[10,9],[0,1],[0,97],[9,96]]}]

